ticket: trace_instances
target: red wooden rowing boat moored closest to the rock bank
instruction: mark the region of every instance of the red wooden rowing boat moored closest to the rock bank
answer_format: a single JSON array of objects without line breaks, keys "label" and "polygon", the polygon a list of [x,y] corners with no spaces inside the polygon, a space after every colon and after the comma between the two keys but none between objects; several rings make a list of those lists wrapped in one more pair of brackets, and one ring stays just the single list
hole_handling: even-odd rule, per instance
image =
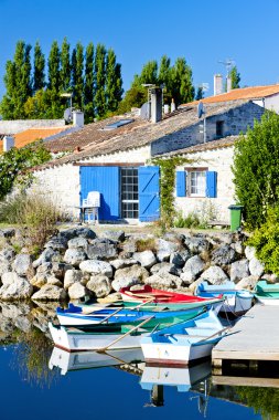
[{"label": "red wooden rowing boat moored closest to the rock bank", "polygon": [[[200,297],[193,295],[186,295],[184,293],[168,292],[153,288],[150,285],[146,284],[140,290],[131,291],[130,287],[120,288],[119,293],[122,296],[124,302],[140,304],[142,302],[148,302],[149,304],[179,304],[184,305],[184,307],[195,307],[197,305],[211,305],[215,300],[221,300],[222,295],[214,296],[213,298]],[[173,307],[173,306],[172,306]]]}]

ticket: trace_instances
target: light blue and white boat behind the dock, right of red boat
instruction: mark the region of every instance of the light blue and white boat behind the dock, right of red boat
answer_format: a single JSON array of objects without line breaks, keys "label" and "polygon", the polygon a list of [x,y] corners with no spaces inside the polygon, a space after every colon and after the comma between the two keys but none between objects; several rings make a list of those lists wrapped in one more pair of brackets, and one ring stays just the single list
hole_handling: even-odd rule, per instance
[{"label": "light blue and white boat behind the dock, right of red boat", "polygon": [[224,303],[221,306],[221,313],[230,313],[239,316],[245,314],[251,307],[254,294],[246,290],[236,290],[234,282],[226,282],[218,285],[212,285],[202,282],[196,287],[195,294],[201,297],[214,298],[214,296],[224,296]]}]

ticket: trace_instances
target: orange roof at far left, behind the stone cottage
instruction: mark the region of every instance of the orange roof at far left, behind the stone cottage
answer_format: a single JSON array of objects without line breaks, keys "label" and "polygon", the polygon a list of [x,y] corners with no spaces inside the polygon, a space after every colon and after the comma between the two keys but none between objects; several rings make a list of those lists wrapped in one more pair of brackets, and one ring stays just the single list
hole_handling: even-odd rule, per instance
[{"label": "orange roof at far left, behind the stone cottage", "polygon": [[[40,128],[29,128],[24,132],[20,132],[14,134],[14,147],[21,148],[30,143],[36,141],[39,139],[44,139],[51,136],[54,136],[58,133],[68,129],[68,126],[63,127],[40,127]],[[3,150],[3,144],[0,143],[0,151]]]}]

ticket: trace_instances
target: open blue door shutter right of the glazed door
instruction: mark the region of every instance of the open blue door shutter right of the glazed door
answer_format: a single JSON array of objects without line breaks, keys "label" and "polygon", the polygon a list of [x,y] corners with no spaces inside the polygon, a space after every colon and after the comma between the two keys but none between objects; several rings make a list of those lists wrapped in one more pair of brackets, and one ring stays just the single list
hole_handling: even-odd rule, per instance
[{"label": "open blue door shutter right of the glazed door", "polygon": [[159,167],[139,167],[139,220],[149,222],[160,218]]}]

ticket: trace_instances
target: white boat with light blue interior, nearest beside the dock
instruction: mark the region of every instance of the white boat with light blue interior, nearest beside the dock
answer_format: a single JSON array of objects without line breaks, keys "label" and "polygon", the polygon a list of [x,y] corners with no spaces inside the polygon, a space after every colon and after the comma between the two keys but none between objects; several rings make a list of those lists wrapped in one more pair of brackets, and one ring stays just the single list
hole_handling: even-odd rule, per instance
[{"label": "white boat with light blue interior, nearest beside the dock", "polygon": [[213,311],[169,326],[144,337],[140,344],[144,360],[163,365],[189,365],[210,357],[225,329]]}]

